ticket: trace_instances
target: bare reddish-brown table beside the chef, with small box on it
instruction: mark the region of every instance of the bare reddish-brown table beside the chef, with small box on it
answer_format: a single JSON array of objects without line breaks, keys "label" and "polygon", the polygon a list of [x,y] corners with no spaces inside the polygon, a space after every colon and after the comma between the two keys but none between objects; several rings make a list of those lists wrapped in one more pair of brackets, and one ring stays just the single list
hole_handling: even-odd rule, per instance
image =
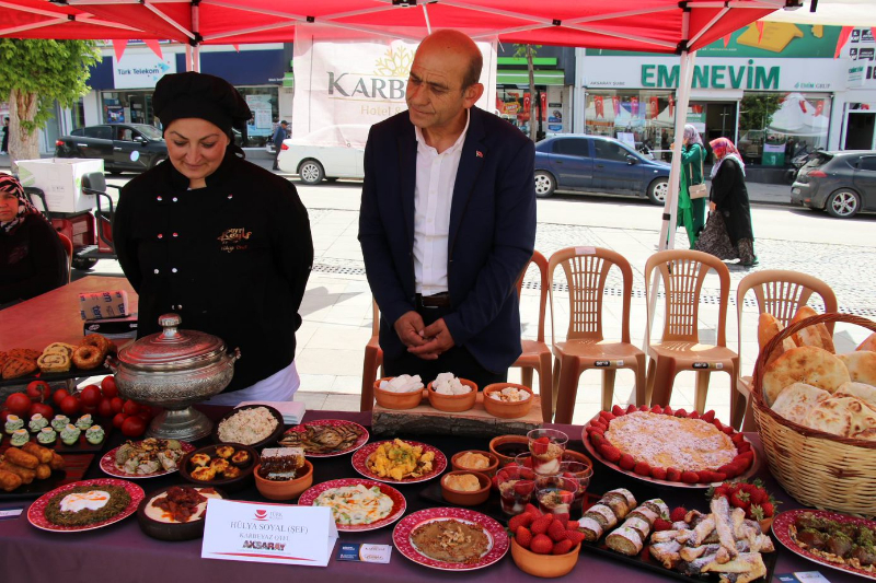
[{"label": "bare reddish-brown table beside the chef, with small box on it", "polygon": [[[31,348],[43,350],[51,342],[76,345],[82,338],[79,294],[110,290],[128,292],[131,313],[137,312],[137,293],[125,278],[89,276],[0,310],[0,350]],[[13,334],[14,331],[14,334]]]}]

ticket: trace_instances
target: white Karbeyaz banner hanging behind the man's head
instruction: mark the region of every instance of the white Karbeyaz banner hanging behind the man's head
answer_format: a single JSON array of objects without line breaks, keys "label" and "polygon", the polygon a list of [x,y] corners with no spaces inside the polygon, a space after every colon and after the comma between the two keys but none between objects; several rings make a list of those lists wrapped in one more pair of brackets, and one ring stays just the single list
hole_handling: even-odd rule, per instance
[{"label": "white Karbeyaz banner hanging behind the man's head", "polygon": [[[419,43],[355,32],[355,37],[348,35],[349,31],[331,26],[296,27],[292,137],[327,126],[371,126],[407,109],[404,93]],[[480,79],[484,94],[475,105],[493,112],[496,40],[477,42],[477,46],[484,56]],[[361,140],[368,136],[367,131],[350,133]]]}]

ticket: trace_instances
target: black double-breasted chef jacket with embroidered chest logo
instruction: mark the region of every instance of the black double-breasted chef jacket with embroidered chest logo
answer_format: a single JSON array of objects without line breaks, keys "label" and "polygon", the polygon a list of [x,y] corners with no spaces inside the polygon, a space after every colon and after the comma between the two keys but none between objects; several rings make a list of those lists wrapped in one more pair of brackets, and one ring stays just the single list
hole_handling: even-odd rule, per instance
[{"label": "black double-breasted chef jacket with embroidered chest logo", "polygon": [[298,308],[313,264],[308,213],[287,179],[229,151],[206,188],[168,161],[130,180],[113,223],[122,269],[139,295],[138,337],[174,312],[241,359],[226,393],[295,358]]}]

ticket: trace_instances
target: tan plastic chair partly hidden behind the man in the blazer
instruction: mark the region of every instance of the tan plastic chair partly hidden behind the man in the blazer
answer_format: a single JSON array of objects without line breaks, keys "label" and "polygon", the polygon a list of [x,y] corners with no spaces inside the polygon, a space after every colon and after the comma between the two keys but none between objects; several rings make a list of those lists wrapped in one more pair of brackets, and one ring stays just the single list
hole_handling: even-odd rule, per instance
[{"label": "tan plastic chair partly hidden behind the man in the blazer", "polygon": [[550,280],[548,279],[548,259],[539,252],[532,254],[527,267],[517,280],[517,295],[523,289],[523,277],[527,275],[529,266],[535,264],[541,276],[541,298],[539,300],[539,331],[535,340],[521,339],[523,352],[511,366],[520,368],[522,384],[532,388],[532,372],[539,372],[539,397],[541,397],[541,416],[545,423],[553,419],[556,394],[554,393],[553,371],[551,370],[551,347],[544,342],[544,312],[548,307],[548,290]]}]

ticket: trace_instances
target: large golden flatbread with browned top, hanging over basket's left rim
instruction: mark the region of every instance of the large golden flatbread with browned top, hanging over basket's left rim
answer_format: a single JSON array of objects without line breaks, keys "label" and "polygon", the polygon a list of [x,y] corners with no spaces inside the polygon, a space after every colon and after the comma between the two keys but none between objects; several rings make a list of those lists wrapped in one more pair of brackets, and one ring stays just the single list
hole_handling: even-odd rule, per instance
[{"label": "large golden flatbread with browned top, hanging over basket's left rim", "polygon": [[827,350],[812,346],[792,348],[763,371],[763,398],[773,406],[782,389],[794,383],[806,383],[828,393],[850,382],[845,364]]}]

